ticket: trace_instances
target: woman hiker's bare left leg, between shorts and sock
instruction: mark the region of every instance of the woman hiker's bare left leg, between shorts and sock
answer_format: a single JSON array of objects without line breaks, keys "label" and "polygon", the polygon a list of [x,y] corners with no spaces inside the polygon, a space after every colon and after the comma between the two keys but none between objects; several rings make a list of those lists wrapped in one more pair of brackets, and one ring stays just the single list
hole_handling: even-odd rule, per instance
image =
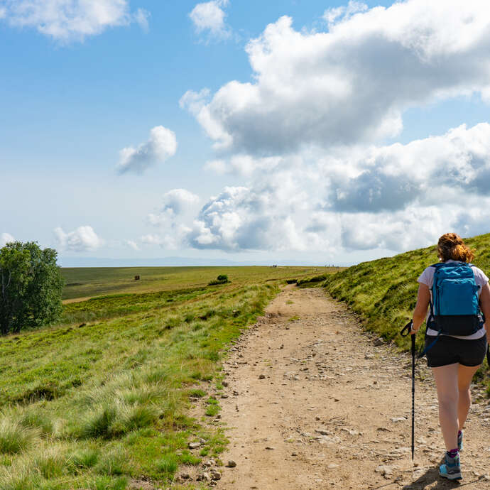
[{"label": "woman hiker's bare left leg, between shorts and sock", "polygon": [[457,431],[459,428],[458,368],[459,364],[432,368],[437,386],[437,399],[439,400],[439,421],[447,451],[457,447]]}]

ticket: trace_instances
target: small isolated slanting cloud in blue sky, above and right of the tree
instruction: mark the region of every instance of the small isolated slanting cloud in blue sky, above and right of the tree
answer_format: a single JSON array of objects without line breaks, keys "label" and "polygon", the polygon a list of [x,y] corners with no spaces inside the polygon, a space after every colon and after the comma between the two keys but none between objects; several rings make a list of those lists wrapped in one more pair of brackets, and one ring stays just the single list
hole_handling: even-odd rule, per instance
[{"label": "small isolated slanting cloud in blue sky, above and right of the tree", "polygon": [[147,168],[175,155],[177,138],[175,133],[163,126],[156,126],[150,131],[150,138],[136,148],[128,146],[119,152],[119,173],[132,172],[142,174]]}]

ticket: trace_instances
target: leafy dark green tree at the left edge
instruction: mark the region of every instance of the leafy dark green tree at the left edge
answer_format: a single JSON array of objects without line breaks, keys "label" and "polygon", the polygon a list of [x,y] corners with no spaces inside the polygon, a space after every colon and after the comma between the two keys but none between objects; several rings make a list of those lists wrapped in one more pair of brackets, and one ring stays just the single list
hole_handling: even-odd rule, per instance
[{"label": "leafy dark green tree at the left edge", "polygon": [[55,322],[65,283],[58,252],[34,241],[13,241],[0,249],[0,333],[18,333]]}]

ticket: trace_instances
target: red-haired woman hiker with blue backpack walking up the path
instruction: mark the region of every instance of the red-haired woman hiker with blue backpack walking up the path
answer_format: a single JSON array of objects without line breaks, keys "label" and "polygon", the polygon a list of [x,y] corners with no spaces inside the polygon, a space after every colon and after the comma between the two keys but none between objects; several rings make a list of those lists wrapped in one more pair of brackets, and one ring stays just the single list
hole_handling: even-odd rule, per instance
[{"label": "red-haired woman hiker with blue backpack walking up the path", "polygon": [[[485,330],[484,325],[484,318],[490,319],[490,287],[489,278],[484,272],[469,264],[474,255],[457,234],[447,233],[440,237],[437,256],[440,263],[426,268],[417,280],[418,297],[410,333],[416,334],[424,320],[427,321],[425,352],[437,386],[439,420],[446,446],[445,461],[440,465],[439,474],[456,480],[462,478],[459,452],[463,447],[464,422],[472,402],[469,387],[473,375],[484,360],[487,339],[490,343],[490,328]],[[465,276],[466,282],[460,277],[461,274]],[[446,281],[444,286],[442,279]],[[466,288],[472,285],[473,293],[464,293],[462,289],[454,289],[451,293],[451,288],[462,288],[462,285]],[[433,290],[436,298],[432,298]],[[442,298],[444,295],[445,299]],[[461,315],[457,308],[463,307],[461,303],[467,301],[463,298],[469,295],[474,296],[473,303],[477,309],[471,329],[467,325],[462,326],[469,316],[458,318],[450,315],[454,315],[454,312]],[[448,309],[443,311],[444,308]],[[481,312],[484,317],[481,317]],[[460,326],[454,322],[459,322]]]}]

